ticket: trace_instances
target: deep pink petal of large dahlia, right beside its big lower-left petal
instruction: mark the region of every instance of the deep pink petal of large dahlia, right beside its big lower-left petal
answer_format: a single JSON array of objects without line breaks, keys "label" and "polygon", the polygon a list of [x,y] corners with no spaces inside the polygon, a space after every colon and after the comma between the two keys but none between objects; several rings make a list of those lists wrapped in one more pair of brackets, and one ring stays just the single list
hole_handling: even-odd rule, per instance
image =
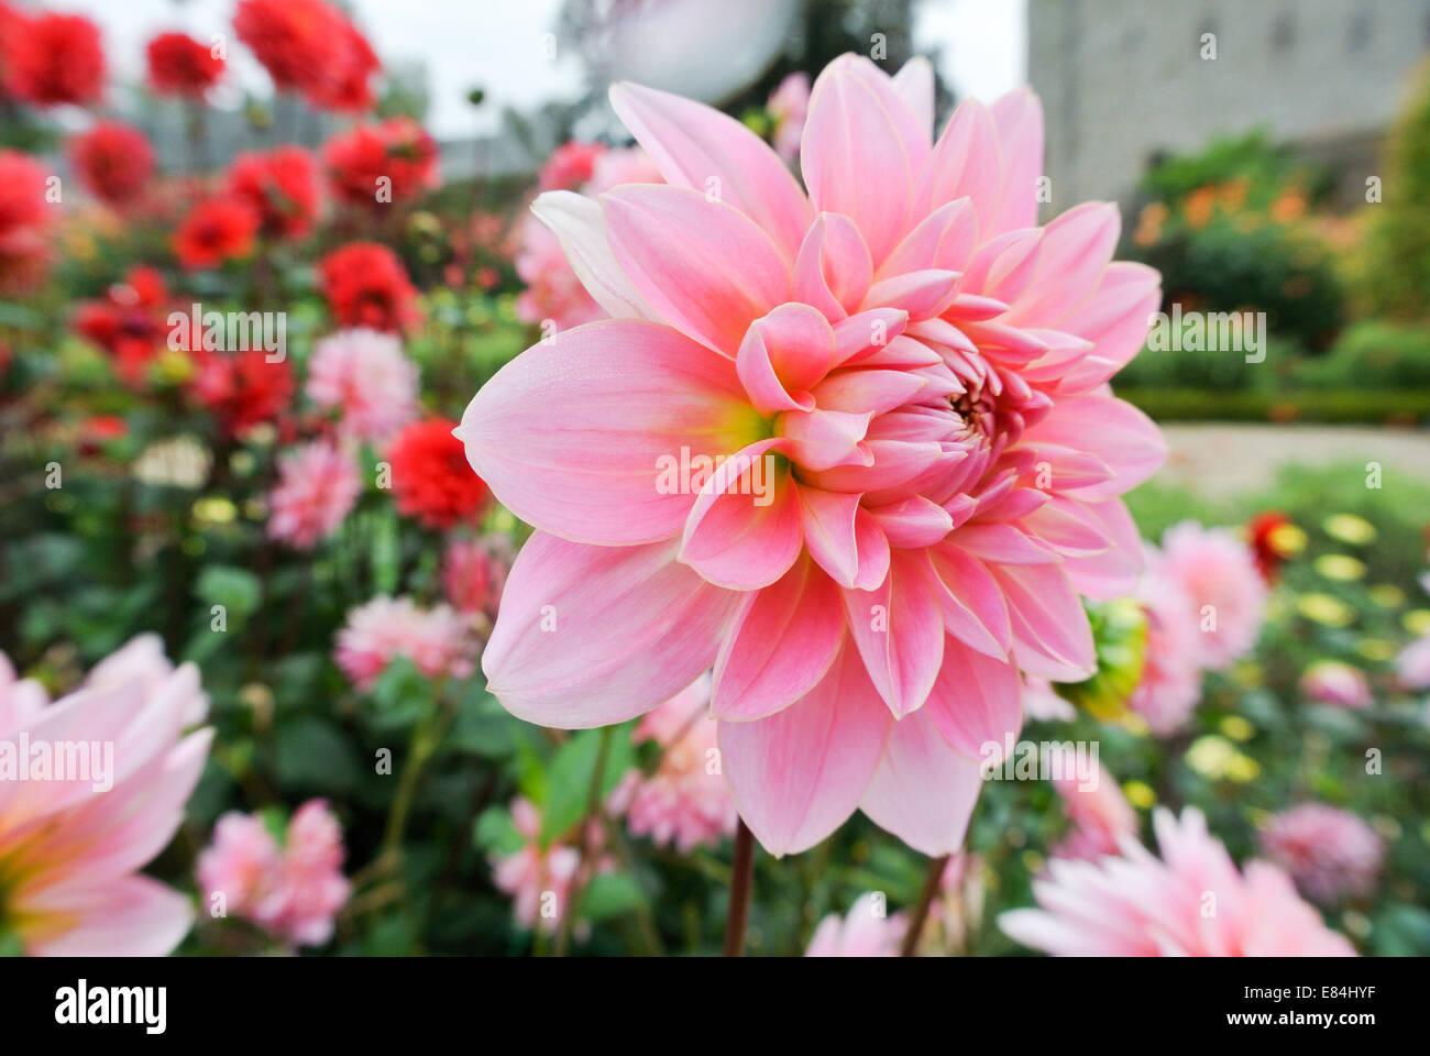
[{"label": "deep pink petal of large dahlia, right beside its big lower-left petal", "polygon": [[779,582],[745,595],[715,660],[716,718],[765,718],[825,677],[844,642],[834,581],[802,557]]}]

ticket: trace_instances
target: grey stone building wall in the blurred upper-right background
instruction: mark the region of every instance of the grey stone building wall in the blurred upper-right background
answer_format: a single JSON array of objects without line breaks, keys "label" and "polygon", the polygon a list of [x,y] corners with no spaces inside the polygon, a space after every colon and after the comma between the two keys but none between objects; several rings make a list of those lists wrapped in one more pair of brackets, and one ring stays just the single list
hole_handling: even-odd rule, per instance
[{"label": "grey stone building wall in the blurred upper-right background", "polygon": [[1254,127],[1330,162],[1348,202],[1427,49],[1430,0],[1030,0],[1052,212]]}]

